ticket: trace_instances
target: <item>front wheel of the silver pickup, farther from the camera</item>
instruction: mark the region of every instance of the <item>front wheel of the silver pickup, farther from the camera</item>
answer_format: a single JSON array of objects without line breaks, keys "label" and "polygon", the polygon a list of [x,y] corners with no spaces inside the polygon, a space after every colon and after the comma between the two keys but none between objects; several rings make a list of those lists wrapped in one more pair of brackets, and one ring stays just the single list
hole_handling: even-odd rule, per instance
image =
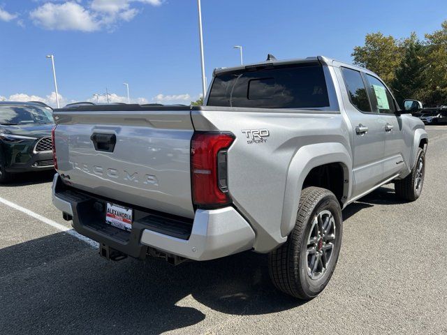
[{"label": "front wheel of the silver pickup, farther from the camera", "polygon": [[[422,168],[420,168],[420,163],[422,162]],[[414,163],[411,173],[404,179],[395,180],[394,190],[397,197],[407,200],[414,201],[420,197],[422,192],[422,187],[424,185],[425,178],[425,153],[423,149],[418,150],[416,155],[416,162]]]}]

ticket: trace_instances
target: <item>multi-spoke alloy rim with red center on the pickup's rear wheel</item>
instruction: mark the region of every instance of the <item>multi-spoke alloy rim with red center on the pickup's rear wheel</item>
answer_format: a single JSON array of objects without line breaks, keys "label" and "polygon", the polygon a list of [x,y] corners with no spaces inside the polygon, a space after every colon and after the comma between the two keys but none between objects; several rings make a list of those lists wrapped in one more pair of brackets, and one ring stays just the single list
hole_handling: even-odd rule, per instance
[{"label": "multi-spoke alloy rim with red center on the pickup's rear wheel", "polygon": [[318,280],[328,269],[335,247],[335,218],[327,209],[320,211],[312,220],[307,238],[307,275]]}]

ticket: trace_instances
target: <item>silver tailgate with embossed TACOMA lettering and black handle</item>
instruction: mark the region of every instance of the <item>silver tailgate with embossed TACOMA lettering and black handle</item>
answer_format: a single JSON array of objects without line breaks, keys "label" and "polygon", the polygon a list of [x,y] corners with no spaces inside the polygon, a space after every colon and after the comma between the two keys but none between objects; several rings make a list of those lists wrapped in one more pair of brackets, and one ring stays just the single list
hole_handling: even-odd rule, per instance
[{"label": "silver tailgate with embossed TACOMA lettering and black handle", "polygon": [[63,179],[118,203],[193,218],[189,107],[88,107],[54,112]]}]

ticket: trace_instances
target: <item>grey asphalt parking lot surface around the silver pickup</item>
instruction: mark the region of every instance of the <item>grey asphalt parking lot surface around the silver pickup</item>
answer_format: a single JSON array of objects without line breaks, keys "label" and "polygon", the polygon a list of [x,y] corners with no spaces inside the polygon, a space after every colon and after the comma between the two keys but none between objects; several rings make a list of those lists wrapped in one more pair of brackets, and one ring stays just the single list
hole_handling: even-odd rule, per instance
[{"label": "grey asphalt parking lot surface around the silver pickup", "polygon": [[335,274],[306,303],[274,290],[256,253],[105,261],[60,229],[52,174],[17,177],[0,186],[0,333],[447,334],[447,126],[427,131],[421,198],[385,186],[347,207]]}]

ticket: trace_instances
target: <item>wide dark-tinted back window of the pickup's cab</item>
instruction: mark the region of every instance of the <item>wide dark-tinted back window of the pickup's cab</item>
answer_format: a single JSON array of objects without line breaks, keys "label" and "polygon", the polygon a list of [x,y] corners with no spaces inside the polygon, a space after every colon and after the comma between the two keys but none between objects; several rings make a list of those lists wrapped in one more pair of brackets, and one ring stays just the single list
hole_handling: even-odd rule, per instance
[{"label": "wide dark-tinted back window of the pickup's cab", "polygon": [[318,109],[329,98],[322,66],[289,66],[218,75],[207,105]]}]

